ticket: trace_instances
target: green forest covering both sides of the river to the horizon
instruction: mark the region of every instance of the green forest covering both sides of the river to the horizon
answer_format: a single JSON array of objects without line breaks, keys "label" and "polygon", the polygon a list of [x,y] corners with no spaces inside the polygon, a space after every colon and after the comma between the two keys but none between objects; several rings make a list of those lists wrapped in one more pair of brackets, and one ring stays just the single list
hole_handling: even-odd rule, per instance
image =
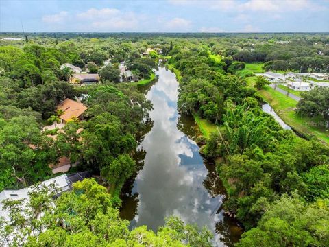
[{"label": "green forest covering both sides of the river to the horizon", "polygon": [[[7,36],[21,34],[0,34]],[[136,153],[153,124],[141,89],[156,82],[160,62],[179,82],[180,114],[201,130],[202,156],[215,163],[223,211],[243,228],[230,246],[329,246],[329,87],[302,92],[289,105],[295,116],[323,123],[319,138],[284,130],[265,113],[270,82],[256,75],[329,73],[329,35],[307,33],[26,33],[0,40],[0,191],[34,188],[27,204],[3,202],[10,220],[0,218],[1,245],[213,245],[212,232],[197,222],[170,216],[152,231],[131,229],[119,215],[121,189],[143,169]],[[99,82],[72,83],[74,72],[62,64]],[[123,64],[134,82],[125,82]],[[64,99],[87,109],[56,128]],[[44,130],[49,124],[55,128]],[[39,183],[58,176],[51,167],[62,157],[77,163],[69,172],[93,178],[53,200],[56,188]]]}]

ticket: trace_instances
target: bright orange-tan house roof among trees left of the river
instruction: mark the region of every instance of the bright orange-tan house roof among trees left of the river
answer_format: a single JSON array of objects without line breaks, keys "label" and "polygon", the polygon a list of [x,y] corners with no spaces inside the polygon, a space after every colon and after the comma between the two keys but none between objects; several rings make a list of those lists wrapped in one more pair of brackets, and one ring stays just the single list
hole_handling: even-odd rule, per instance
[{"label": "bright orange-tan house roof among trees left of the river", "polygon": [[84,104],[76,102],[72,99],[65,99],[57,106],[57,110],[64,110],[64,114],[60,116],[64,121],[69,121],[72,117],[80,117],[88,108]]}]

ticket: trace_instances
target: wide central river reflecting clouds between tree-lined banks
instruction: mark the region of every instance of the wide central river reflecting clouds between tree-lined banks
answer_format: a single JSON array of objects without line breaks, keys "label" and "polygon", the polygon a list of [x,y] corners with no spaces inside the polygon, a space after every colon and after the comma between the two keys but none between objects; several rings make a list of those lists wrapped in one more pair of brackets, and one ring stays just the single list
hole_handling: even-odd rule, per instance
[{"label": "wide central river reflecting clouds between tree-lined banks", "polygon": [[146,224],[156,231],[164,217],[178,215],[184,222],[208,226],[215,246],[232,246],[242,229],[223,214],[225,192],[215,165],[199,154],[197,126],[178,113],[175,74],[159,67],[156,75],[146,95],[154,107],[153,126],[138,148],[141,170],[123,187],[121,217],[130,220],[131,228]]}]

